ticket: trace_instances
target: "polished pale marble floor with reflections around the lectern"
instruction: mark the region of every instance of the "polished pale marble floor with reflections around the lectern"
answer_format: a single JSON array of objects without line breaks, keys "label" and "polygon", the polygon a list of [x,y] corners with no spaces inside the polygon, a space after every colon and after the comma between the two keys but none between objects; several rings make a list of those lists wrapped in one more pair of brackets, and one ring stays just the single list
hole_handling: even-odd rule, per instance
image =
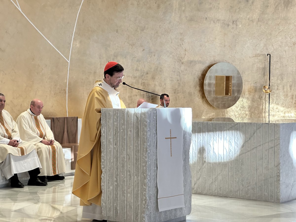
[{"label": "polished pale marble floor with reflections around the lectern", "polygon": [[[45,187],[0,188],[0,221],[91,221],[81,218],[79,199],[71,193],[73,178],[67,176]],[[193,194],[186,221],[296,221],[296,200],[278,204]]]}]

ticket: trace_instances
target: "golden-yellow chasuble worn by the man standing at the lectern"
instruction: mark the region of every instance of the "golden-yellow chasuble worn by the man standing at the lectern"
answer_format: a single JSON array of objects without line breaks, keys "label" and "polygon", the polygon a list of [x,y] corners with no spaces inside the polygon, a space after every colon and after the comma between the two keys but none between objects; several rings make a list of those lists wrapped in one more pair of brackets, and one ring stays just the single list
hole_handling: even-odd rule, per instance
[{"label": "golden-yellow chasuble worn by the man standing at the lectern", "polygon": [[[103,81],[96,81],[91,90],[82,119],[72,190],[72,193],[80,198],[81,206],[92,203],[101,205],[101,108],[113,108],[110,91],[106,88],[109,85],[106,86],[107,83]],[[110,90],[119,92],[111,87]],[[121,99],[118,108],[126,108]]]}]

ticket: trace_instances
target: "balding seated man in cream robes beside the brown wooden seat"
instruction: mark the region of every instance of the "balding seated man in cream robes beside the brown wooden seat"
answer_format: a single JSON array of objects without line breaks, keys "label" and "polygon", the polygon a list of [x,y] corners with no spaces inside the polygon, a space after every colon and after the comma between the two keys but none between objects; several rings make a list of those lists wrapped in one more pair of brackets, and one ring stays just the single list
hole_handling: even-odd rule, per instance
[{"label": "balding seated man in cream robes beside the brown wooden seat", "polygon": [[[20,136],[36,146],[37,154],[42,166],[38,178],[47,180],[63,180],[66,165],[61,144],[54,140],[54,135],[41,114],[43,102],[33,99],[30,108],[22,112],[17,118]],[[46,177],[45,177],[46,176]]]}]

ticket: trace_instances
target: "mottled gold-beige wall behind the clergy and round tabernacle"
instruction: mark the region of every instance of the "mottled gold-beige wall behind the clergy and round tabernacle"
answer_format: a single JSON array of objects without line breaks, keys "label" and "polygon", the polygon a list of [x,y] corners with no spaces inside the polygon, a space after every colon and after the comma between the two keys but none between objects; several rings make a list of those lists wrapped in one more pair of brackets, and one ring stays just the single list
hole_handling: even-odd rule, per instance
[{"label": "mottled gold-beige wall behind the clergy and round tabernacle", "polygon": [[[264,118],[267,53],[271,118],[295,118],[295,1],[81,2],[0,0],[0,92],[13,118],[36,97],[45,116],[66,116],[68,75],[68,115],[81,117],[108,61],[123,65],[129,85],[169,94],[170,107],[192,107],[193,118]],[[233,64],[243,79],[241,98],[227,110],[212,107],[203,93],[205,74],[217,62]],[[119,90],[127,107],[140,97],[159,101],[127,86]]]}]

